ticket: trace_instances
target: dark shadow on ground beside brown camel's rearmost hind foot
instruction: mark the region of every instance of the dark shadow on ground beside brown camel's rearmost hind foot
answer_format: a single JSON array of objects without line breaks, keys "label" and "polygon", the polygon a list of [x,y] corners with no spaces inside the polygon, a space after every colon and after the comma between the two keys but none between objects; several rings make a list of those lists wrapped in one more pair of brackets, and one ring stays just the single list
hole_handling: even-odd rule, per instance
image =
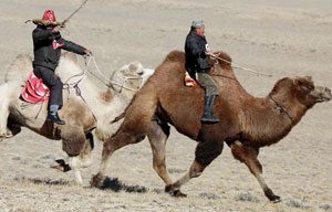
[{"label": "dark shadow on ground beside brown camel's rearmost hind foot", "polygon": [[112,190],[114,192],[125,191],[128,193],[146,193],[148,191],[145,187],[139,186],[127,186],[121,182],[117,178],[108,178],[106,177],[101,186],[98,187],[101,190]]}]

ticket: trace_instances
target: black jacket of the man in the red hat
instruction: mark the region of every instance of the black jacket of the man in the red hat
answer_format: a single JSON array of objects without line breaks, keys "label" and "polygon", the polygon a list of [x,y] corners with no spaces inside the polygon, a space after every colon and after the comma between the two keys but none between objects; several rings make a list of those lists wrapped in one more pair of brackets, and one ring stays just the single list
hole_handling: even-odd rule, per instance
[{"label": "black jacket of the man in the red hat", "polygon": [[[40,25],[38,25],[33,30],[32,39],[33,39],[33,53],[34,53],[33,65],[49,67],[53,71],[58,66],[61,49],[81,55],[83,55],[85,51],[85,47],[62,39],[60,32],[52,33],[51,29],[45,29]],[[54,50],[53,49],[54,40],[60,45],[63,44],[63,46]]]}]

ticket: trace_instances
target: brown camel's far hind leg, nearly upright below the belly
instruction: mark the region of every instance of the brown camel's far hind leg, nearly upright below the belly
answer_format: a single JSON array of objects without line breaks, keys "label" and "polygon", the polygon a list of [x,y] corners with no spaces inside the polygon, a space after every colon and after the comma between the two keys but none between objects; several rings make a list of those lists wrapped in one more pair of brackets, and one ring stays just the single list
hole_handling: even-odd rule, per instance
[{"label": "brown camel's far hind leg, nearly upright below the belly", "polygon": [[169,136],[169,126],[167,124],[159,125],[157,121],[152,121],[147,130],[148,141],[153,151],[153,167],[157,174],[166,184],[172,184],[168,171],[165,163],[165,147]]}]

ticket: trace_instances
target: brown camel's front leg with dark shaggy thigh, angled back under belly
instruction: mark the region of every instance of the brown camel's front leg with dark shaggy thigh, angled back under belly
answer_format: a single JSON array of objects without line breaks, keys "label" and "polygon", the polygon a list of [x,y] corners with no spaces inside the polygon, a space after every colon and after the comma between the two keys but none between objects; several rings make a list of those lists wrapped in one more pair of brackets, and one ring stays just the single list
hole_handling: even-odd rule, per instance
[{"label": "brown camel's front leg with dark shaggy thigh, angled back under belly", "polygon": [[199,142],[196,147],[195,160],[189,171],[174,184],[166,186],[165,190],[175,197],[186,197],[186,194],[180,192],[180,187],[188,182],[191,178],[199,177],[205,168],[221,153],[222,147],[224,141]]}]

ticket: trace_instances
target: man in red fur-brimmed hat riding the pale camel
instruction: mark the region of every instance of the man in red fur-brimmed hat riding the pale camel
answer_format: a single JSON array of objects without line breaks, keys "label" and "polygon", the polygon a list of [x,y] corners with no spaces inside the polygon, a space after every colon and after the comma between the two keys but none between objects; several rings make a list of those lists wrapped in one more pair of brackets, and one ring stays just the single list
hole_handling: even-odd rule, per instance
[{"label": "man in red fur-brimmed hat riding the pale camel", "polygon": [[64,125],[58,116],[58,109],[63,105],[63,84],[54,71],[59,64],[61,49],[76,54],[91,54],[90,50],[61,38],[60,22],[55,21],[52,10],[46,10],[42,20],[33,21],[37,28],[32,32],[33,39],[33,72],[34,75],[43,80],[50,88],[49,115],[46,120]]}]

